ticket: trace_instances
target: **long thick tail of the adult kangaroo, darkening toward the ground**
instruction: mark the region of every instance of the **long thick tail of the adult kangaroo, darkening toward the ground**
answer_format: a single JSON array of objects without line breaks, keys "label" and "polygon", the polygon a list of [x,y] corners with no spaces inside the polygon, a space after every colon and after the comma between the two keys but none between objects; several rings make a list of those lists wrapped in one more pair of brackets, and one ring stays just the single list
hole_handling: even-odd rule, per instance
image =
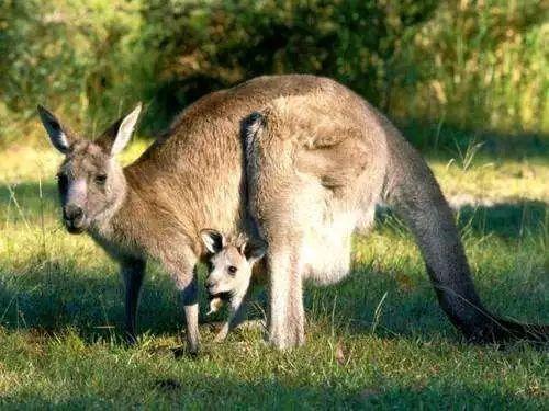
[{"label": "long thick tail of the adult kangaroo, darkening toward the ground", "polygon": [[389,151],[384,199],[412,230],[442,310],[475,343],[549,341],[549,327],[493,316],[481,302],[471,278],[452,212],[417,151],[384,123]]}]

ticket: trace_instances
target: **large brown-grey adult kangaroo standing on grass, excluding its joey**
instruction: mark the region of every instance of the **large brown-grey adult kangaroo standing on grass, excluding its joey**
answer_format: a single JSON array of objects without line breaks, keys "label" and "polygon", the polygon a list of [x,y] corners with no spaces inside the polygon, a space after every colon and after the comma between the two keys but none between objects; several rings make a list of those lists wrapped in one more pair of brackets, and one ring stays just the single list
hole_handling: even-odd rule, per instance
[{"label": "large brown-grey adult kangaroo standing on grass, excluding its joey", "polygon": [[344,276],[352,231],[367,227],[383,201],[408,224],[442,309],[468,339],[547,340],[546,327],[502,320],[482,306],[430,170],[347,88],[313,76],[279,76],[211,93],[122,169],[114,155],[127,144],[139,110],[91,141],[38,107],[65,155],[58,174],[65,225],[69,232],[89,232],[120,262],[130,335],[152,258],[181,293],[188,345],[197,351],[199,232],[247,230],[249,208],[268,241],[269,339],[278,347],[302,343],[302,277],[330,283]]}]

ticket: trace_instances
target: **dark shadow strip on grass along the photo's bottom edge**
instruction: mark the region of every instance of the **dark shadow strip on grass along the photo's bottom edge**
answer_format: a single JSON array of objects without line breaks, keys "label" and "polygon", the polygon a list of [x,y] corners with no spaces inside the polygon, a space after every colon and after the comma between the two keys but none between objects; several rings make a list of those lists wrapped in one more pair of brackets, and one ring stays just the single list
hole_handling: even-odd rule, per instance
[{"label": "dark shadow strip on grass along the photo's bottom edge", "polygon": [[[450,386],[433,379],[423,387],[411,387],[394,378],[380,376],[379,386],[363,387],[359,390],[348,389],[345,384],[334,381],[330,385],[284,385],[278,379],[258,379],[255,383],[232,376],[214,377],[212,375],[193,374],[187,380],[179,378],[158,379],[153,376],[135,375],[132,384],[142,388],[132,395],[135,388],[128,389],[126,380],[120,381],[112,376],[105,384],[108,388],[85,392],[77,387],[65,387],[64,396],[46,399],[35,393],[9,396],[0,399],[0,404],[33,409],[67,408],[89,409],[98,407],[114,408],[166,408],[177,406],[183,408],[215,409],[223,403],[229,407],[246,409],[365,409],[369,407],[389,407],[391,409],[425,408],[437,409],[478,408],[509,409],[527,408],[539,402],[536,398],[502,392],[494,387],[480,385],[475,389]],[[109,376],[99,377],[99,380]],[[343,377],[341,377],[343,378]],[[69,378],[70,380],[70,378]],[[103,385],[102,385],[103,386]],[[74,392],[71,392],[74,391]],[[128,392],[130,391],[130,392]],[[67,398],[68,397],[68,398]]]}]

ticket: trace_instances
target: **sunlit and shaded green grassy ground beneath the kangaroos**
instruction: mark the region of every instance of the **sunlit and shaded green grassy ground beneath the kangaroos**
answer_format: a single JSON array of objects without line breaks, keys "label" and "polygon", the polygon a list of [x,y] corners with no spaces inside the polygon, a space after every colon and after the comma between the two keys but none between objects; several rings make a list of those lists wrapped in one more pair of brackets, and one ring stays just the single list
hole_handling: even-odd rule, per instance
[{"label": "sunlit and shaded green grassy ground beneath the kangaroos", "polygon": [[[134,145],[124,160],[142,150]],[[549,322],[547,159],[453,157],[430,164],[460,206],[480,294],[498,313]],[[392,219],[356,239],[345,282],[307,288],[304,347],[273,351],[258,329],[215,345],[204,323],[201,355],[175,359],[181,316],[155,265],[141,340],[126,347],[115,265],[58,222],[59,160],[49,148],[0,152],[2,408],[549,407],[547,351],[463,343],[438,308],[410,235]]]}]

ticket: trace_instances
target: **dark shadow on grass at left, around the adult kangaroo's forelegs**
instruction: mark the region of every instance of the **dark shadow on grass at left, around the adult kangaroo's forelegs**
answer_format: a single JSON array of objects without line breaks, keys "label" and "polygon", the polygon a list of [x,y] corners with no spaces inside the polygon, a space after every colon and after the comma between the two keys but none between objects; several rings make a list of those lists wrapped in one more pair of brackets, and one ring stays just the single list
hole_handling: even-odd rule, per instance
[{"label": "dark shadow on grass at left, around the adult kangaroo's forelegs", "polygon": [[[168,275],[152,273],[139,304],[138,328],[153,334],[177,334],[182,310]],[[86,341],[122,340],[124,290],[115,266],[105,272],[44,262],[0,273],[0,323],[12,330],[63,333],[76,329]],[[204,298],[202,299],[204,300]]]}]

